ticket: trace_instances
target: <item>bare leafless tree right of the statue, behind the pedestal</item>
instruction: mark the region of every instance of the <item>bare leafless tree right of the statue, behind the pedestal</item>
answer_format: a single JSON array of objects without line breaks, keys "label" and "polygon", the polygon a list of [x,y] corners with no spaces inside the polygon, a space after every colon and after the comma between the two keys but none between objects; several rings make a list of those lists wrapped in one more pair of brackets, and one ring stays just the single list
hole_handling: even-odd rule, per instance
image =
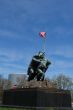
[{"label": "bare leafless tree right of the statue, behind the pedestal", "polygon": [[58,89],[72,90],[73,82],[72,79],[64,74],[60,74],[57,77],[54,77],[52,82],[56,85]]}]

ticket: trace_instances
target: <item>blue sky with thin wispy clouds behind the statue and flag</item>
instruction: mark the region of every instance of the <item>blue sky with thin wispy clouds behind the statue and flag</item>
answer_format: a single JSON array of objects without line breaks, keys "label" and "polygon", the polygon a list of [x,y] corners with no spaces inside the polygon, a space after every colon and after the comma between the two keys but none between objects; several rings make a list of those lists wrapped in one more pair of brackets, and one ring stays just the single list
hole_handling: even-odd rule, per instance
[{"label": "blue sky with thin wispy clouds behind the statue and flag", "polygon": [[32,56],[42,51],[46,32],[45,76],[73,78],[73,0],[0,0],[0,74],[27,74]]}]

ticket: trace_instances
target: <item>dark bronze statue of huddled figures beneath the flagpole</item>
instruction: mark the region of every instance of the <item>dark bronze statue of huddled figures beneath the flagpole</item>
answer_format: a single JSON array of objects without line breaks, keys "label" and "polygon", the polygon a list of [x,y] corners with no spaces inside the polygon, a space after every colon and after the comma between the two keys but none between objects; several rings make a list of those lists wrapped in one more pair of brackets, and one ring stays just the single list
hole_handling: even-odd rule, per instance
[{"label": "dark bronze statue of huddled figures beneath the flagpole", "polygon": [[50,64],[51,62],[45,58],[44,52],[39,52],[37,55],[33,56],[27,71],[29,75],[28,81],[34,78],[36,78],[37,81],[43,81],[45,72]]}]

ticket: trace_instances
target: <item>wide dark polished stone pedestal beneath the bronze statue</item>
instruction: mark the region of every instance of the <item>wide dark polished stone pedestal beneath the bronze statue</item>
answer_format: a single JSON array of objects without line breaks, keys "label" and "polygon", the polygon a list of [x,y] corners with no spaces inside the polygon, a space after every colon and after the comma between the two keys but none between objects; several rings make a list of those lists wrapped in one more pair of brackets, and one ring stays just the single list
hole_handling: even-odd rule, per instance
[{"label": "wide dark polished stone pedestal beneath the bronze statue", "polygon": [[25,107],[71,107],[69,91],[44,88],[5,90],[3,104]]}]

